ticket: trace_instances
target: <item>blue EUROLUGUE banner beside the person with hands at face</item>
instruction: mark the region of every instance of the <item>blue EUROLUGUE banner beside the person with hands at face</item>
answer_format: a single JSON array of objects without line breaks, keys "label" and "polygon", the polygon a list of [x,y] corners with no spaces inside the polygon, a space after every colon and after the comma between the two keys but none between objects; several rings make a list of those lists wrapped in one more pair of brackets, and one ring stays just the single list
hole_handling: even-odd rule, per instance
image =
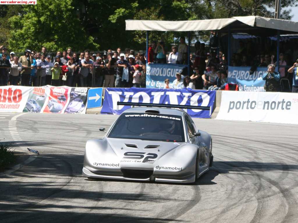
[{"label": "blue EUROLUGUE banner beside the person with hands at face", "polygon": [[262,76],[267,67],[257,67],[253,73],[250,73],[250,68],[229,66],[228,82],[238,84],[239,91],[265,91]]}]

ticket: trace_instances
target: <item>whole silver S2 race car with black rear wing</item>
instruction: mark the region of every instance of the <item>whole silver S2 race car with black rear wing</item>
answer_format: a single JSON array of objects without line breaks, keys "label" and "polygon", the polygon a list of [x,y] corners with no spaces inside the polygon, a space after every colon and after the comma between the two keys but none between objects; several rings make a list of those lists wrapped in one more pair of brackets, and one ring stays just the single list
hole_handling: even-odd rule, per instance
[{"label": "whole silver S2 race car with black rear wing", "polygon": [[118,105],[150,107],[125,110],[103,139],[87,141],[83,176],[192,183],[212,166],[211,136],[198,131],[189,114],[173,109],[210,107],[124,102]]}]

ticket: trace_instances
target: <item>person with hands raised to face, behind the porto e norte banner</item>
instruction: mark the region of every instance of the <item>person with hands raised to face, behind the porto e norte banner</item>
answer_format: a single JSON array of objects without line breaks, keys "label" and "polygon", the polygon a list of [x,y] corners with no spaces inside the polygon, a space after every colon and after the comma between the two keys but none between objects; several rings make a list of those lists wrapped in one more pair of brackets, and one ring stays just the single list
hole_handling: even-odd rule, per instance
[{"label": "person with hands raised to face, behind the porto e norte banner", "polygon": [[266,92],[277,92],[280,91],[280,74],[275,72],[275,65],[269,64],[268,70],[262,76],[263,80],[266,80],[264,88]]}]

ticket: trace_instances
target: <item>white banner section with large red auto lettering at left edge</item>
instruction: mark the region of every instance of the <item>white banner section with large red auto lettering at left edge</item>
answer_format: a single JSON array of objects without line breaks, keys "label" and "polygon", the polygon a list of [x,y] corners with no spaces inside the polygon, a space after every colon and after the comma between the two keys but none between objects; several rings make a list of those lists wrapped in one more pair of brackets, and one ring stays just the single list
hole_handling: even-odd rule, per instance
[{"label": "white banner section with large red auto lettering at left edge", "polygon": [[0,112],[23,112],[32,87],[0,86]]}]

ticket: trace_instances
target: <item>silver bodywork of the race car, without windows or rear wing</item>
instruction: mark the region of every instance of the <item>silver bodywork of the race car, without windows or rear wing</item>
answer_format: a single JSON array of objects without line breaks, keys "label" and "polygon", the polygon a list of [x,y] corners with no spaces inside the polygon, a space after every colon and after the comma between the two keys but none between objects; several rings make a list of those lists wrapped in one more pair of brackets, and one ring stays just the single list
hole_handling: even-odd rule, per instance
[{"label": "silver bodywork of the race car, without windows or rear wing", "polygon": [[83,176],[192,183],[209,170],[212,138],[204,131],[199,131],[200,136],[190,137],[187,124],[191,123],[195,132],[198,130],[186,112],[178,109],[137,107],[127,109],[122,114],[145,114],[148,110],[158,110],[159,114],[150,113],[151,115],[180,116],[184,127],[184,142],[109,138],[107,136],[116,120],[103,139],[87,141]]}]

